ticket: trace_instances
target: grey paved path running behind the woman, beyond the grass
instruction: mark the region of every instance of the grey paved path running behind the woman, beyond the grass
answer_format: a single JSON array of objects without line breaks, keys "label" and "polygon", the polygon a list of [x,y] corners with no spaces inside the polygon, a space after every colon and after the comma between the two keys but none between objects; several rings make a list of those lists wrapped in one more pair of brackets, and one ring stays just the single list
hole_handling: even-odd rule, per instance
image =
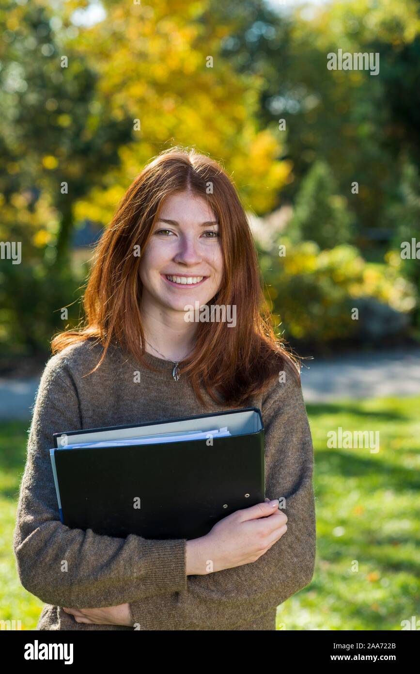
[{"label": "grey paved path running behind the woman, beyond the grass", "polygon": [[[420,395],[420,349],[304,361],[306,402]],[[39,377],[0,378],[0,419],[30,419]]]}]

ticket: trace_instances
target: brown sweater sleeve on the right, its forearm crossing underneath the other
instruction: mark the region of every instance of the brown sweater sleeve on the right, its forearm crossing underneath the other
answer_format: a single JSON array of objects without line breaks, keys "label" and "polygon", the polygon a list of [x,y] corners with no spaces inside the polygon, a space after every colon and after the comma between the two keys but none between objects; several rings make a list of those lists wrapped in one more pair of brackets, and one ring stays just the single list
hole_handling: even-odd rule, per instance
[{"label": "brown sweater sleeve on the right, its forearm crossing underneath the other", "polygon": [[[313,447],[298,380],[291,366],[262,404],[266,496],[285,498],[287,532],[253,563],[188,576],[184,590],[131,602],[146,630],[232,630],[258,619],[310,583],[316,553]],[[177,627],[179,625],[179,627]]]}]

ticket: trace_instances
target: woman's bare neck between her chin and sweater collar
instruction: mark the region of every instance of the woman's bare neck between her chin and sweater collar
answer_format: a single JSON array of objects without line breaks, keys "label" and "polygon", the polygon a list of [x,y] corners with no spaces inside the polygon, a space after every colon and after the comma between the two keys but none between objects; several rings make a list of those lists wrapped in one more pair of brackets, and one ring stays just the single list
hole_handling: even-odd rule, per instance
[{"label": "woman's bare neck between her chin and sweater collar", "polygon": [[149,342],[145,344],[145,350],[152,356],[164,356],[179,363],[194,348],[197,324],[186,323],[183,311],[166,311],[162,307],[143,306],[142,303],[141,321]]}]

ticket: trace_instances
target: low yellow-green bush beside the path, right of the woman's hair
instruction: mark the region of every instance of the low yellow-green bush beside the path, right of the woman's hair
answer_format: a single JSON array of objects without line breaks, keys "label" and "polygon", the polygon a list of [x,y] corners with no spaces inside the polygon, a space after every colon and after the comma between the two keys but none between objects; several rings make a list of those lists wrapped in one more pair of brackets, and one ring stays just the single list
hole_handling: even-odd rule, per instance
[{"label": "low yellow-green bush beside the path, right of the woman's hair", "polygon": [[[262,252],[260,265],[273,321],[281,322],[293,344],[322,348],[340,341],[379,341],[407,327],[415,288],[394,260],[372,266],[344,244],[321,251],[313,241],[293,246],[282,238],[280,246],[285,255],[279,257],[277,249]],[[352,317],[353,308],[359,309],[358,319]],[[379,328],[370,329],[373,313]]]}]

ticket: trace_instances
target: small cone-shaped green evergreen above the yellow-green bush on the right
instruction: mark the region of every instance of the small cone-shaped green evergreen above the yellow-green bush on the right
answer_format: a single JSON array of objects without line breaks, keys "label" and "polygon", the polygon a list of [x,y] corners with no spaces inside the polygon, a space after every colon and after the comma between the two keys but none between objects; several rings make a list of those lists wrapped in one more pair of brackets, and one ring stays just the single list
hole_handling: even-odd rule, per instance
[{"label": "small cone-shaped green evergreen above the yellow-green bush on the right", "polygon": [[333,248],[351,241],[352,222],[347,200],[339,195],[332,171],[326,162],[318,160],[302,181],[287,236],[292,243],[315,241],[321,248]]}]

